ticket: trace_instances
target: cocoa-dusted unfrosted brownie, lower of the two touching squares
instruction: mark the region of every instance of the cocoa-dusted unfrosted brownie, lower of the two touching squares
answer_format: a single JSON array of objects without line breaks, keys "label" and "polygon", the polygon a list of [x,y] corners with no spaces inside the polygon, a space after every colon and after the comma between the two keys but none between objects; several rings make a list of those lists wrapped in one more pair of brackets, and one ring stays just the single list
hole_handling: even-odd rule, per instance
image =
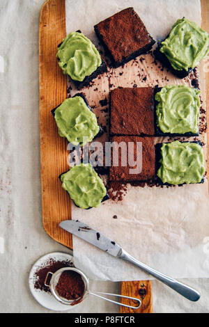
[{"label": "cocoa-dusted unfrosted brownie, lower of the two touching squares", "polygon": [[111,147],[110,181],[148,181],[155,176],[153,137],[114,136]]}]

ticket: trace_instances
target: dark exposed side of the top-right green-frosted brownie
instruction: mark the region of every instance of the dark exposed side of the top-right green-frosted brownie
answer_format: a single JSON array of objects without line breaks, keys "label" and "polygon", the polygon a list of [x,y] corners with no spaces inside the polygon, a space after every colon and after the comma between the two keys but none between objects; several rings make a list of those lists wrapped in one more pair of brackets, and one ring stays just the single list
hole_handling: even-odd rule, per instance
[{"label": "dark exposed side of the top-right green-frosted brownie", "polygon": [[[167,38],[168,38],[168,36],[167,36]],[[165,40],[167,38],[165,38]],[[176,75],[176,77],[178,77],[179,79],[184,79],[185,77],[187,77],[189,75],[190,72],[192,72],[192,70],[194,70],[194,68],[193,69],[189,68],[189,70],[175,70],[173,68],[173,66],[171,65],[171,63],[170,63],[169,59],[167,58],[167,56],[160,51],[161,47],[162,47],[162,44],[160,43],[157,46],[157,48],[153,51],[153,54],[154,54],[155,58],[158,61],[160,61],[160,63],[162,63],[162,65],[164,65],[169,70],[171,70],[173,75]]]}]

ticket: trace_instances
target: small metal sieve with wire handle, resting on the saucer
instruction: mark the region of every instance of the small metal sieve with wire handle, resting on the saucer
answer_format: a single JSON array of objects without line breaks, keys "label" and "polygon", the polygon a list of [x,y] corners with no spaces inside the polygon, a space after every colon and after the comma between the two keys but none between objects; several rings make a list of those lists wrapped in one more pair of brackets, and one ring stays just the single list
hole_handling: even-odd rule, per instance
[{"label": "small metal sieve with wire handle, resting on the saucer", "polygon": [[[82,296],[80,296],[79,298],[75,298],[72,300],[68,300],[67,298],[63,298],[59,295],[59,293],[56,291],[56,285],[59,282],[59,278],[61,277],[61,274],[63,273],[63,271],[75,271],[76,273],[79,274],[79,276],[81,276],[83,282],[84,282],[84,294],[82,294]],[[65,267],[65,268],[61,268],[58,271],[56,271],[55,273],[49,272],[47,273],[47,276],[45,278],[45,286],[48,286],[52,292],[52,295],[56,298],[57,301],[65,304],[65,305],[77,305],[79,303],[81,303],[82,301],[84,301],[84,298],[86,298],[86,296],[88,294],[91,294],[93,296],[97,296],[98,298],[102,298],[103,300],[109,301],[111,303],[116,303],[118,305],[123,305],[124,307],[127,308],[132,308],[132,309],[139,309],[141,306],[141,301],[139,300],[139,298],[132,298],[131,296],[123,296],[123,295],[119,295],[119,294],[111,294],[111,293],[104,293],[104,292],[92,292],[89,289],[89,281],[88,278],[86,277],[86,275],[80,271],[77,268],[72,268],[72,267]],[[99,294],[103,294],[103,295],[108,295],[108,296],[117,296],[119,298],[129,298],[130,300],[134,301],[134,303],[137,303],[137,306],[132,306],[132,305],[126,305],[117,301],[113,301],[109,298],[104,298],[104,296],[101,296]]]}]

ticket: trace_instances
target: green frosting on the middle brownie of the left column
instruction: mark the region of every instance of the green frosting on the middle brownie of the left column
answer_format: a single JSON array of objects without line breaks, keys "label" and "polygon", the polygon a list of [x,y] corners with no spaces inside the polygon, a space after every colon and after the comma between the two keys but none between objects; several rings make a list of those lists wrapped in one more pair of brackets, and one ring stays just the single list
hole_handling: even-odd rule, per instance
[{"label": "green frosting on the middle brownie of the left column", "polygon": [[67,138],[73,145],[91,142],[100,130],[95,114],[80,96],[65,99],[55,110],[54,118],[60,136]]}]

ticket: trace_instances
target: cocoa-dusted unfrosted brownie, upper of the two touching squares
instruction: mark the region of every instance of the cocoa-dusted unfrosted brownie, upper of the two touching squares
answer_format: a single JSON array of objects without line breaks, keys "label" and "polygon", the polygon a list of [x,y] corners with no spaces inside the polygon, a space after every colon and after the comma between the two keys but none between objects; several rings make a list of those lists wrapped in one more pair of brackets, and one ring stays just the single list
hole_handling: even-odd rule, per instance
[{"label": "cocoa-dusted unfrosted brownie, upper of the two touching squares", "polygon": [[115,88],[110,100],[111,135],[155,135],[154,88]]}]

